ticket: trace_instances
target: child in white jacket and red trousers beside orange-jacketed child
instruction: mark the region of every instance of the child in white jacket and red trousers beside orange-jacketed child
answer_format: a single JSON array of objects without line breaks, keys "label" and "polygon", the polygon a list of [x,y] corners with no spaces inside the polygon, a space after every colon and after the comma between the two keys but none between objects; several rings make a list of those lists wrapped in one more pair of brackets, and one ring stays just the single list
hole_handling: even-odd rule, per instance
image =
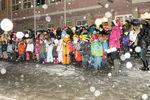
[{"label": "child in white jacket and red trousers beside orange-jacketed child", "polygon": [[[33,55],[33,50],[34,50],[34,45],[31,41],[27,41],[27,48],[26,48],[26,60],[32,60],[32,55]],[[29,55],[29,57],[28,57]]]}]

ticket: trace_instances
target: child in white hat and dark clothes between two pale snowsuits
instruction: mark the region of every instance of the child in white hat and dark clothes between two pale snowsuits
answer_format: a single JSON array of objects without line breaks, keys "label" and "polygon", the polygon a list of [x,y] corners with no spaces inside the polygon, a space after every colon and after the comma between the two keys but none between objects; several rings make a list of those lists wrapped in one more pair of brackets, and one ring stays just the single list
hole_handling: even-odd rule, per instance
[{"label": "child in white hat and dark clothes between two pale snowsuits", "polygon": [[58,46],[58,40],[55,39],[55,40],[54,40],[53,51],[52,51],[53,59],[54,59],[54,60],[53,60],[54,64],[58,64],[58,63],[59,63],[59,61],[58,61],[57,46]]}]

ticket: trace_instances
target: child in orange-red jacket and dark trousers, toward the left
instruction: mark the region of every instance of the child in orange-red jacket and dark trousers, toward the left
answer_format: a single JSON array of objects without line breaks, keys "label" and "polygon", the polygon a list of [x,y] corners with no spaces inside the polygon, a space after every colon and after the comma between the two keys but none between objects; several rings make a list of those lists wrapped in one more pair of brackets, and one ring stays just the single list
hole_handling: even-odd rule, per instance
[{"label": "child in orange-red jacket and dark trousers, toward the left", "polygon": [[19,53],[19,59],[24,60],[25,59],[25,42],[22,40],[18,45],[18,53]]}]

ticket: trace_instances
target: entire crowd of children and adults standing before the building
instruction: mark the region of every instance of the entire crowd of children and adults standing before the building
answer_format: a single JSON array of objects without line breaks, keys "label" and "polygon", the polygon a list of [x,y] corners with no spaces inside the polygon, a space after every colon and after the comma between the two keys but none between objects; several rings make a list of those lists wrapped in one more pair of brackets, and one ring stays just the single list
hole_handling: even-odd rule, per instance
[{"label": "entire crowd of children and adults standing before the building", "polygon": [[[141,47],[143,67],[147,71],[147,37],[150,29],[145,24],[131,25],[130,29],[121,26],[119,20],[112,22],[112,28],[103,27],[64,27],[47,31],[24,32],[22,38],[16,32],[0,35],[0,58],[15,61],[35,61],[54,64],[74,64],[85,68],[100,70],[108,63],[108,57],[114,64],[113,74],[118,74],[120,66],[119,51],[129,52],[129,48]],[[108,56],[110,55],[110,56]]]}]

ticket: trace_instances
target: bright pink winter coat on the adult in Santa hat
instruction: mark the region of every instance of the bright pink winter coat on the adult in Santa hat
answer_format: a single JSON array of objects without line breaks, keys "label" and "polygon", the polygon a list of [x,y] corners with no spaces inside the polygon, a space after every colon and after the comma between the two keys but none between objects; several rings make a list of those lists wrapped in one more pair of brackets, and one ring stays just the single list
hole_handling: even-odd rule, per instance
[{"label": "bright pink winter coat on the adult in Santa hat", "polygon": [[109,48],[120,48],[120,35],[122,34],[122,30],[118,26],[113,26],[109,39]]}]

